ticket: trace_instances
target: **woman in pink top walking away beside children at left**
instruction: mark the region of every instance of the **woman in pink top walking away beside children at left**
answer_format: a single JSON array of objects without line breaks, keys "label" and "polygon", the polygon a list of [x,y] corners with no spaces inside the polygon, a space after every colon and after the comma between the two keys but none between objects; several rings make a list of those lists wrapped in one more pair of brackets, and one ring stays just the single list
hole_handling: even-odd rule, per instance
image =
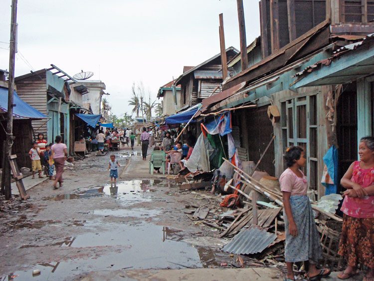
[{"label": "woman in pink top walking away beside children at left", "polygon": [[66,144],[62,143],[62,137],[56,136],[54,140],[55,144],[51,146],[51,157],[49,159],[54,160],[54,165],[56,167],[56,177],[55,181],[53,182],[53,188],[57,189],[57,182],[62,186],[62,173],[64,171],[65,160],[67,156],[67,146]]}]

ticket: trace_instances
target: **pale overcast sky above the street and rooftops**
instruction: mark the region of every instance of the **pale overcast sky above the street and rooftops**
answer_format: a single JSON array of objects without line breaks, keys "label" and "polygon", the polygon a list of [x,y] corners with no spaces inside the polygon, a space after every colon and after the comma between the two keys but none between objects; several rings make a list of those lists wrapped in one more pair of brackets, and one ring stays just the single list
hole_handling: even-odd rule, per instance
[{"label": "pale overcast sky above the street and rooftops", "polygon": [[[247,45],[260,35],[258,0],[244,0]],[[11,0],[1,0],[0,69],[9,68]],[[131,86],[159,87],[226,48],[240,49],[235,0],[18,0],[15,76],[49,68],[92,71],[106,85],[112,113],[131,113]]]}]

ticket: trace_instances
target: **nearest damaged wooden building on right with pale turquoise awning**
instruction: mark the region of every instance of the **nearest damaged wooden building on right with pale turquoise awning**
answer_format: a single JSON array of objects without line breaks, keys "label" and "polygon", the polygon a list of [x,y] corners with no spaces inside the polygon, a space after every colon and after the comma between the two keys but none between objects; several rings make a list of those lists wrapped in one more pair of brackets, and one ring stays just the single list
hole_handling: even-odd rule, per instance
[{"label": "nearest damaged wooden building on right with pale turquoise awning", "polygon": [[[374,64],[366,57],[374,53],[373,38],[367,36],[374,32],[373,9],[373,0],[261,0],[262,59],[256,61],[258,53],[249,51],[249,67],[225,81],[221,93],[203,100],[201,112],[256,105],[235,110],[232,118],[249,160],[257,162],[274,134],[259,169],[279,177],[286,168],[285,149],[302,146],[308,184],[320,198],[328,149],[338,148],[340,180],[357,160],[359,139],[373,135]],[[274,125],[269,105],[280,112]]]}]

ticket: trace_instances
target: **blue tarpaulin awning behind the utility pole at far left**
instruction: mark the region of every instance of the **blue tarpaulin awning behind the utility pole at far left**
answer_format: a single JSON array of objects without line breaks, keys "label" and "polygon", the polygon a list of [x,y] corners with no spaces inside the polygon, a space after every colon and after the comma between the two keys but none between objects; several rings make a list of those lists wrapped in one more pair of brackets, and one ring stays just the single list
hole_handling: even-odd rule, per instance
[{"label": "blue tarpaulin awning behind the utility pole at far left", "polygon": [[[15,117],[32,119],[48,118],[48,116],[21,100],[15,91],[13,92],[13,103],[16,105],[13,107],[13,116]],[[0,108],[8,111],[8,89],[0,88]]]}]

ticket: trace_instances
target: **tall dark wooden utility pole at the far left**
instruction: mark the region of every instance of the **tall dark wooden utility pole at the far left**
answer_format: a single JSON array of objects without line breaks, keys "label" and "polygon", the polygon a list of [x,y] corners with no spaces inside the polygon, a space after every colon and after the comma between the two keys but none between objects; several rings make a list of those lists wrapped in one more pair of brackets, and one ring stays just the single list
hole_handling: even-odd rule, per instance
[{"label": "tall dark wooden utility pole at the far left", "polygon": [[8,80],[8,122],[6,126],[6,151],[3,173],[4,173],[4,195],[5,199],[11,198],[10,187],[10,167],[8,156],[11,155],[11,147],[13,145],[13,91],[14,91],[14,64],[15,64],[15,39],[17,24],[17,0],[11,2],[11,21],[10,21],[10,52],[9,52],[9,80]]}]

